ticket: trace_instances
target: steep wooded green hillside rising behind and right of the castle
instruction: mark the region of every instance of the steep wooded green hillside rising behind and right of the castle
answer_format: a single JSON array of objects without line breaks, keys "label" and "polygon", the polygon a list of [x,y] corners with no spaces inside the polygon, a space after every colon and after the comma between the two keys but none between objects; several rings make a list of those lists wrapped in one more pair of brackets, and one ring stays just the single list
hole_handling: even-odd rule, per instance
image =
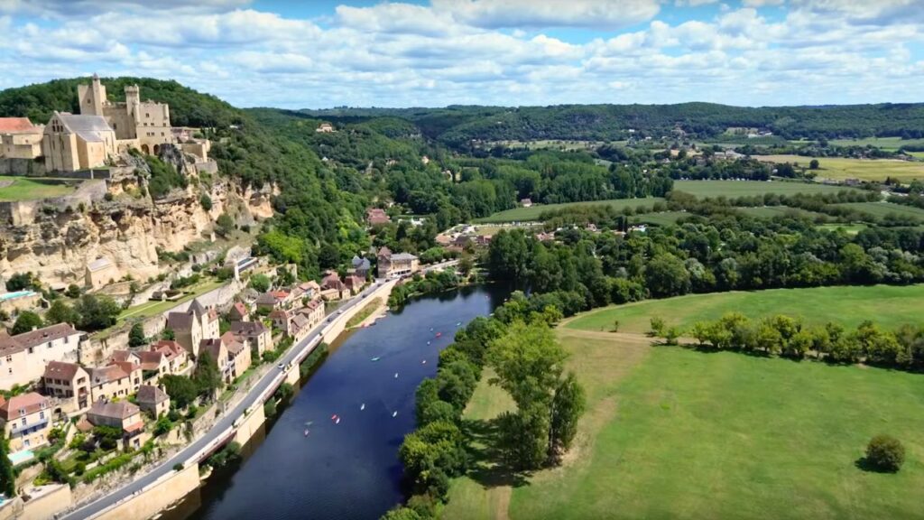
[{"label": "steep wooded green hillside rising behind and right of the castle", "polygon": [[[79,112],[77,85],[90,78],[53,80],[0,92],[0,117],[29,117],[45,123],[55,110]],[[338,266],[369,246],[362,225],[372,197],[359,171],[328,167],[312,149],[275,125],[176,81],[103,78],[110,100],[125,99],[124,87],[137,83],[141,99],[170,105],[175,126],[206,128],[210,155],[221,175],[241,185],[274,183],[276,216],[263,227],[258,253],[299,266],[304,277]],[[313,133],[313,130],[312,130]],[[233,217],[233,216],[232,216]]]}]

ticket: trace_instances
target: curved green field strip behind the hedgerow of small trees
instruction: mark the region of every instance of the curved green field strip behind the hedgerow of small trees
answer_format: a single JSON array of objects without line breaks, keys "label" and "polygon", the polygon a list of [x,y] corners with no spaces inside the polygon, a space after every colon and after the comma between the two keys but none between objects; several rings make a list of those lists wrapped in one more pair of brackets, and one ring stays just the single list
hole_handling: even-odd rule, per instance
[{"label": "curved green field strip behind the hedgerow of small trees", "polygon": [[690,294],[663,300],[614,305],[579,315],[565,328],[647,332],[650,317],[661,316],[670,326],[687,328],[701,320],[714,320],[729,312],[748,317],[775,314],[804,316],[806,323],[828,321],[854,325],[875,317],[885,328],[919,323],[924,309],[924,284],[911,286],[819,287]]}]

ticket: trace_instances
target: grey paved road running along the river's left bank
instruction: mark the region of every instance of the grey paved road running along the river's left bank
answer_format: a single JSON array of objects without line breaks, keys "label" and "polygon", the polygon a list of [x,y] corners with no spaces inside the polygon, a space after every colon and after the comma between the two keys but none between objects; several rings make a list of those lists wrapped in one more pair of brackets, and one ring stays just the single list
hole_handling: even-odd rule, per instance
[{"label": "grey paved road running along the river's left bank", "polygon": [[[339,307],[337,312],[339,312],[341,309],[346,311],[346,309],[350,309],[356,305],[364,303],[369,297],[369,294],[381,287],[383,283],[386,282],[384,280],[376,280],[372,286],[359,293],[356,297],[350,299],[343,306]],[[299,341],[297,345],[294,345],[285,355],[281,356],[278,362],[285,363],[286,365],[292,363],[298,353],[304,348],[304,346],[318,338],[318,336],[321,335],[322,329],[327,325],[329,325],[329,322],[327,319],[325,319],[321,325],[312,330],[304,340]],[[173,457],[170,457],[170,459],[165,461],[164,464],[155,467],[151,472],[144,475],[143,477],[133,480],[132,482],[128,483],[128,485],[123,486],[120,489],[116,489],[116,491],[113,491],[95,501],[91,501],[79,509],[76,509],[73,512],[62,516],[61,518],[66,520],[78,520],[89,518],[94,514],[99,514],[107,507],[115,504],[116,502],[131,497],[141,489],[150,486],[157,479],[164,477],[164,475],[174,471],[173,467],[175,464],[185,463],[190,457],[205,449],[210,443],[213,442],[213,440],[218,439],[218,436],[222,435],[222,433],[225,432],[227,428],[231,427],[234,424],[234,421],[244,414],[244,410],[255,404],[263,392],[270,388],[270,385],[273,384],[273,380],[278,374],[278,369],[270,370],[264,374],[263,377],[257,382],[257,384],[255,384],[250,389],[247,396],[245,396],[244,399],[241,400],[241,402],[238,403],[234,409],[219,419],[218,422],[215,423],[215,425],[212,427],[212,429],[208,431],[208,433],[206,433],[200,439],[195,440],[189,444],[183,451],[176,453],[176,455]]]}]

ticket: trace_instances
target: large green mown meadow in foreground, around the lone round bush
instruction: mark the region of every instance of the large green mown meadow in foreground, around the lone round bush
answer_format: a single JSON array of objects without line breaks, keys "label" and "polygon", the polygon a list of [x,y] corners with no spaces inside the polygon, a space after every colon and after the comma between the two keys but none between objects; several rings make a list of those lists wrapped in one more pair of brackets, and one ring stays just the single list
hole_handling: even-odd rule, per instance
[{"label": "large green mown meadow in foreground, around the lone round bush", "polygon": [[[924,288],[905,289],[921,301]],[[879,312],[841,312],[838,321],[884,323],[901,306],[886,301]],[[905,303],[914,306],[914,297]],[[558,334],[587,391],[588,411],[564,464],[514,476],[477,458],[475,470],[453,481],[444,518],[921,516],[909,489],[924,486],[924,376],[652,347],[638,334],[577,330],[575,323]],[[490,430],[492,417],[511,406],[487,380],[466,410],[478,431]],[[897,474],[857,466],[879,433],[905,443]]]}]

